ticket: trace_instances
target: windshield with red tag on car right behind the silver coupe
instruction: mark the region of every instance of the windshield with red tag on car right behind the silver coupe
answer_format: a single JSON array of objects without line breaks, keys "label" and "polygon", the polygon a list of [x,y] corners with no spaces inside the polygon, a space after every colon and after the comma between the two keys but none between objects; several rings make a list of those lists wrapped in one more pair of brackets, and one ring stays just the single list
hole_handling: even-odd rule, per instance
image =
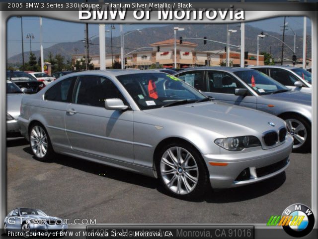
[{"label": "windshield with red tag on car right behind the silver coupe", "polygon": [[258,95],[289,91],[287,87],[256,70],[236,71],[234,74],[249,85]]}]

